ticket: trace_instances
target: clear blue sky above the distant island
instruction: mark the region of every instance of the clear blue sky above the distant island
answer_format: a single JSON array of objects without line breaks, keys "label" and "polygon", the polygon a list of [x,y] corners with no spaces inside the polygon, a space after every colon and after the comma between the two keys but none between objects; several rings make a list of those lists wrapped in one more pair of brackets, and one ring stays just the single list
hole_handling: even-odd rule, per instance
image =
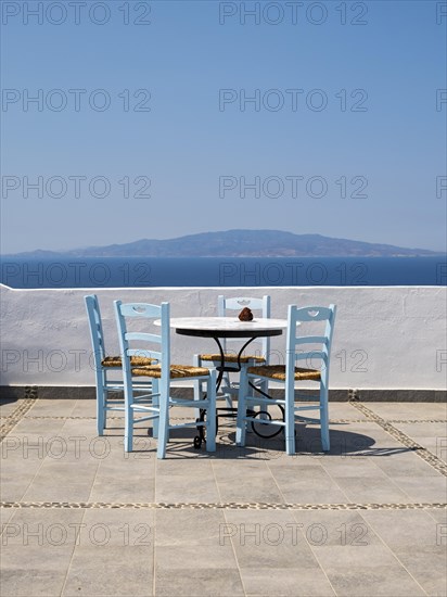
[{"label": "clear blue sky above the distant island", "polygon": [[446,249],[445,2],[1,4],[3,253],[232,228]]}]

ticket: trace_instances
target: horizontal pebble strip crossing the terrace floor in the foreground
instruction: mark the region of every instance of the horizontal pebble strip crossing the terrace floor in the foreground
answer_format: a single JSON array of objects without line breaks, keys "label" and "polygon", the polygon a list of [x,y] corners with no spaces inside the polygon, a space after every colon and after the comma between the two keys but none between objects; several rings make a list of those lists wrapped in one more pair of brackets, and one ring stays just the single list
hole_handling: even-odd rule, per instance
[{"label": "horizontal pebble strip crossing the terrace floor in the foreground", "polygon": [[447,509],[443,503],[413,504],[274,504],[274,503],[110,503],[110,501],[0,501],[14,509],[101,509],[101,510],[430,510]]}]

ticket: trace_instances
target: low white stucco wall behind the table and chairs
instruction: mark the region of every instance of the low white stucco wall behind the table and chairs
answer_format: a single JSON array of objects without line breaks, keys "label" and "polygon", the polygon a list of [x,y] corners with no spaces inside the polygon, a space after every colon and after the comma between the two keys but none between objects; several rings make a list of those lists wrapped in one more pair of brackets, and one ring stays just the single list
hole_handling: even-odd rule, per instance
[{"label": "low white stucco wall behind the table and chairs", "polygon": [[[99,296],[110,354],[118,354],[113,301],[169,301],[171,317],[216,315],[217,295],[270,294],[272,317],[289,304],[337,305],[332,352],[333,389],[444,390],[447,373],[445,288],[151,288],[12,290],[1,285],[0,385],[94,385],[84,304]],[[285,336],[271,341],[272,360]],[[173,333],[173,361],[215,351],[213,340]]]}]

